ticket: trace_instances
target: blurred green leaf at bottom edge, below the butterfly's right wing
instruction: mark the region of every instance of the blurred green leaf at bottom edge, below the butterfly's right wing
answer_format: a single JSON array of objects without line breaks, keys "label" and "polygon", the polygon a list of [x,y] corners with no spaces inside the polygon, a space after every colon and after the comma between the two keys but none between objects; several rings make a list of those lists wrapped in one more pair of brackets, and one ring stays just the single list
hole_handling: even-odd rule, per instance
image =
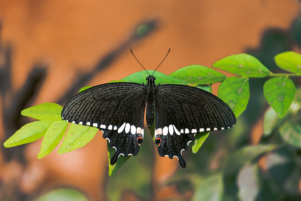
[{"label": "blurred green leaf at bottom edge, below the butterfly's right wing", "polygon": [[222,174],[214,174],[197,185],[193,201],[221,201],[223,197]]}]

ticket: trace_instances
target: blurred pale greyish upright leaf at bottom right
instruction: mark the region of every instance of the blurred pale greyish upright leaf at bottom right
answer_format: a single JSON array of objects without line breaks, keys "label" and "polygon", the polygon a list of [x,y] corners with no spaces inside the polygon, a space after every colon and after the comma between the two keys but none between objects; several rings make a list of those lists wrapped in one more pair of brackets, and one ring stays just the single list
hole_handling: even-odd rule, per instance
[{"label": "blurred pale greyish upright leaf at bottom right", "polygon": [[238,197],[243,201],[256,200],[259,193],[259,168],[258,165],[247,163],[240,169],[237,177],[237,186],[239,188]]}]

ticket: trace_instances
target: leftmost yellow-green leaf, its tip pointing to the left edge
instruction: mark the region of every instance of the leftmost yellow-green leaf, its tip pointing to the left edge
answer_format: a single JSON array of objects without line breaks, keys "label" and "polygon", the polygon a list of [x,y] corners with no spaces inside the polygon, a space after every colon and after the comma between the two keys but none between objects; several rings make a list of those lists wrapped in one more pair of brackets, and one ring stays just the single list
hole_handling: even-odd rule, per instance
[{"label": "leftmost yellow-green leaf, its tip pointing to the left edge", "polygon": [[36,141],[44,136],[46,130],[53,123],[54,121],[34,121],[25,124],[8,138],[3,145],[5,147],[12,147]]}]

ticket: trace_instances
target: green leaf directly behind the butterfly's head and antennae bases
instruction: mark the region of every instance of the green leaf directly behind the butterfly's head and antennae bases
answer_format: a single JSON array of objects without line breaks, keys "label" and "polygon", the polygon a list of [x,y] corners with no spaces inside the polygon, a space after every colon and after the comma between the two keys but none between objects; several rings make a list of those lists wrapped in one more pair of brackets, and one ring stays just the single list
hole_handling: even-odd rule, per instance
[{"label": "green leaf directly behind the butterfly's head and antennae bases", "polygon": [[[149,74],[153,74],[153,70],[147,70]],[[135,83],[146,83],[146,77],[148,74],[146,71],[139,71],[137,73],[130,74],[129,76],[122,78],[120,81],[125,81],[125,82],[135,82]],[[184,82],[183,80],[178,80],[173,77],[169,77],[166,74],[163,74],[159,71],[156,71],[154,73],[154,77],[156,77],[156,83],[160,84],[187,84],[187,82]]]}]

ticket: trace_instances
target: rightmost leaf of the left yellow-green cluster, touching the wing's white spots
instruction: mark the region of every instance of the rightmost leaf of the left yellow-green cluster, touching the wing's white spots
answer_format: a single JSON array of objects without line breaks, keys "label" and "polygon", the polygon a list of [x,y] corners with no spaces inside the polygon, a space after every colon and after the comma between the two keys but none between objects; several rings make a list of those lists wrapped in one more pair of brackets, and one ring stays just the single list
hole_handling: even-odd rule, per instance
[{"label": "rightmost leaf of the left yellow-green cluster, touching the wing's white spots", "polygon": [[81,124],[70,124],[63,143],[58,149],[59,154],[67,153],[85,146],[95,136],[98,128]]}]

